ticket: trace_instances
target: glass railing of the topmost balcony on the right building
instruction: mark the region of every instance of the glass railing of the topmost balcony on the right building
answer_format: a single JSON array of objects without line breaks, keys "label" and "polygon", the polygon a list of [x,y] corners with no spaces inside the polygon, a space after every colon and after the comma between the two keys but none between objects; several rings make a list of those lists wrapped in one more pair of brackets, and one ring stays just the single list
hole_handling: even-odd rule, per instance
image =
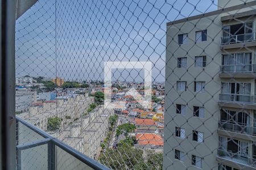
[{"label": "glass railing of the topmost balcony on the right building", "polygon": [[241,35],[232,35],[232,36],[225,36],[221,37],[221,44],[233,44],[233,43],[240,43],[246,41],[254,41],[255,40],[255,33],[244,33]]}]

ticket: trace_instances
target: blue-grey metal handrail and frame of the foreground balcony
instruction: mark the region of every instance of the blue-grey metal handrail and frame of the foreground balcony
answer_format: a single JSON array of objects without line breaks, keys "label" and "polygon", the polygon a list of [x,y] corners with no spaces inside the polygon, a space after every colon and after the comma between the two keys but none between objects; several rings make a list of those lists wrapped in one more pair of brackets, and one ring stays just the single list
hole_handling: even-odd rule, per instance
[{"label": "blue-grey metal handrail and frame of the foreground balcony", "polygon": [[[97,162],[96,160],[94,160],[92,158],[89,158],[88,156],[86,156],[86,155],[82,154],[81,152],[75,150],[71,146],[68,146],[67,144],[59,141],[59,139],[56,139],[55,137],[52,137],[51,135],[47,134],[45,131],[40,130],[40,129],[36,128],[35,126],[29,124],[28,122],[24,121],[22,118],[16,117],[16,124],[18,124],[18,122],[20,122],[21,124],[23,124],[27,128],[31,129],[32,131],[35,131],[35,133],[38,133],[42,137],[46,138],[46,140],[39,140],[37,145],[35,144],[37,141],[35,141],[35,142],[31,143],[31,145],[26,144],[26,146],[25,145],[16,146],[16,148],[18,150],[19,150],[19,148],[25,148],[26,149],[26,148],[39,146],[40,144],[48,143],[48,144],[53,145],[53,147],[55,147],[55,146],[60,147],[65,152],[72,155],[76,159],[79,159],[82,163],[88,165],[89,167],[91,167],[93,169],[109,169],[108,167],[105,167],[101,163]],[[18,128],[16,128],[16,130],[18,130]],[[18,133],[16,133],[16,134],[18,134]],[[48,153],[48,155],[51,156],[51,154],[49,154],[49,153]],[[52,155],[56,156],[55,154],[52,154]],[[17,156],[17,158],[18,157],[19,156]],[[51,160],[55,160],[55,159],[51,159]],[[55,169],[55,168],[52,167],[50,169]]]}]

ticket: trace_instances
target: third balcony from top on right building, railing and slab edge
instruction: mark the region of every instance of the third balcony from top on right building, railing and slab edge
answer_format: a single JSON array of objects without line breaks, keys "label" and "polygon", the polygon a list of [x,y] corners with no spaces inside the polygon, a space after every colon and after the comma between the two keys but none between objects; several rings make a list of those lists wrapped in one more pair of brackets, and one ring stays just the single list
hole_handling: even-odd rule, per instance
[{"label": "third balcony from top on right building, railing and slab edge", "polygon": [[218,105],[220,107],[256,109],[256,96],[220,94]]}]

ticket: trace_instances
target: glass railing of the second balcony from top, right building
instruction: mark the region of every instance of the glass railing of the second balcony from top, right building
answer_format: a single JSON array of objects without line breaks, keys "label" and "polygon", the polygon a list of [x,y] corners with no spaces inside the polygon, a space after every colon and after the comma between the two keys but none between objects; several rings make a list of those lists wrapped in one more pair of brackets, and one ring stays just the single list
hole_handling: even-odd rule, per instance
[{"label": "glass railing of the second balcony from top, right building", "polygon": [[220,73],[256,73],[256,64],[222,65]]}]

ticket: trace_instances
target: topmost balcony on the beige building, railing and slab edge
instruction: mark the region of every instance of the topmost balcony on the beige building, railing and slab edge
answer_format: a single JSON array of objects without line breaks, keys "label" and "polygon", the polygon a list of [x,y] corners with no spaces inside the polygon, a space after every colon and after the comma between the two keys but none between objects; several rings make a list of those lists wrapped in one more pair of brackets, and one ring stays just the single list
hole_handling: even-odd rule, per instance
[{"label": "topmost balcony on the beige building, railing and slab edge", "polygon": [[221,37],[221,49],[256,46],[255,32]]}]

